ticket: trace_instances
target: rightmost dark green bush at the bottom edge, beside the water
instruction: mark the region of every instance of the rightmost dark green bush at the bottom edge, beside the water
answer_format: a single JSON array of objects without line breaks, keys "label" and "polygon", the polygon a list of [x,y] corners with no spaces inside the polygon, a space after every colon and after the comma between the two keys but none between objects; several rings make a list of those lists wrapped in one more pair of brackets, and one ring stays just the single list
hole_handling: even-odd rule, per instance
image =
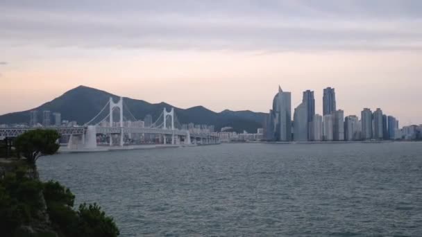
[{"label": "rightmost dark green bush at the bottom edge, beside the water", "polygon": [[119,235],[119,229],[114,220],[108,216],[105,216],[104,211],[101,211],[101,207],[97,204],[81,204],[78,209],[78,216],[80,222],[78,230],[80,236],[92,236],[92,237],[113,237]]}]

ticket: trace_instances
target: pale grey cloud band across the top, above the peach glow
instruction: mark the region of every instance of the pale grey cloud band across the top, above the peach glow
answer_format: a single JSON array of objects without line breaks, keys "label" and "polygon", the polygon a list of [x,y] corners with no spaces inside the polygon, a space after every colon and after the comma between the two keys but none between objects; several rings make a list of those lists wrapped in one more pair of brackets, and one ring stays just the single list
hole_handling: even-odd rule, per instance
[{"label": "pale grey cloud band across the top, above the peach glow", "polygon": [[43,46],[419,50],[421,9],[420,1],[5,1],[0,34]]}]

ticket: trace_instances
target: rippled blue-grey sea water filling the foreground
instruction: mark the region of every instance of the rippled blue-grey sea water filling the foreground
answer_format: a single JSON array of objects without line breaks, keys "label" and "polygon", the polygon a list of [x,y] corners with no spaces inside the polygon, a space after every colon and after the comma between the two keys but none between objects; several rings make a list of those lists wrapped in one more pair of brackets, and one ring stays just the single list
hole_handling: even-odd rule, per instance
[{"label": "rippled blue-grey sea water filling the foreground", "polygon": [[121,236],[422,236],[422,143],[223,144],[41,157]]}]

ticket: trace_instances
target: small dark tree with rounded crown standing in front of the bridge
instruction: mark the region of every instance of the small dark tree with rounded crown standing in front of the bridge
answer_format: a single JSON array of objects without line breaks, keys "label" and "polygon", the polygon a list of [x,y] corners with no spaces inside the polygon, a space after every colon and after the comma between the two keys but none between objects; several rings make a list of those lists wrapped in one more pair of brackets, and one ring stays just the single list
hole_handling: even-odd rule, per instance
[{"label": "small dark tree with rounded crown standing in front of the bridge", "polygon": [[17,137],[15,148],[18,155],[24,156],[29,163],[35,161],[42,155],[53,155],[60,145],[56,143],[60,134],[55,130],[31,130]]}]

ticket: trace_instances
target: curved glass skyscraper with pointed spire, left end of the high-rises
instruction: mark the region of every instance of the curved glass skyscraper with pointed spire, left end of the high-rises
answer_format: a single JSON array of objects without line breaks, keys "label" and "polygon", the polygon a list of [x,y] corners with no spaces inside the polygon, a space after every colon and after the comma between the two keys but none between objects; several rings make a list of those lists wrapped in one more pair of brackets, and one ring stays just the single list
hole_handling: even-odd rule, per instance
[{"label": "curved glass skyscraper with pointed spire, left end of the high-rises", "polygon": [[281,87],[278,87],[278,93],[273,98],[273,109],[270,110],[267,119],[266,138],[292,141],[292,94],[290,92],[282,91]]}]

